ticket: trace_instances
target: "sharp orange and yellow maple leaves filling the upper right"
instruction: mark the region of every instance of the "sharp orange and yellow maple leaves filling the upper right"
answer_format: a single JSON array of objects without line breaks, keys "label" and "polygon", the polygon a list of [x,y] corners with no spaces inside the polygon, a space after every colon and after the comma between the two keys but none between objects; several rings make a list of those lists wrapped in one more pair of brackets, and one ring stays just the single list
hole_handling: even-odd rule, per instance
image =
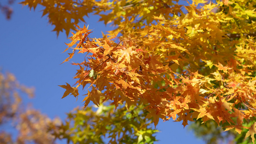
[{"label": "sharp orange and yellow maple leaves filling the upper right", "polygon": [[[256,2],[253,0],[24,0],[30,8],[44,6],[49,23],[71,42],[69,61],[83,54],[75,86],[63,97],[77,97],[87,88],[85,107],[105,101],[118,108],[143,107],[155,126],[158,120],[214,120],[254,142],[256,122]],[[52,14],[54,13],[54,14]],[[62,14],[66,13],[66,14]],[[114,30],[91,38],[77,25],[93,13]],[[75,15],[75,16],[74,16]],[[55,18],[55,17],[58,17]],[[87,90],[86,89],[86,90]],[[63,98],[62,97],[62,98]]]}]

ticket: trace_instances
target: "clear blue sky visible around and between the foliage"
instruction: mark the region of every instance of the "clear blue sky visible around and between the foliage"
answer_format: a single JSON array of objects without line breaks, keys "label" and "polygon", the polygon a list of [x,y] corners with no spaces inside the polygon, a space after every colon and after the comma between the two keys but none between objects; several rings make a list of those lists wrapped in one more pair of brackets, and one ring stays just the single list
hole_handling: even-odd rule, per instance
[{"label": "clear blue sky visible around and between the foliage", "polygon": [[[65,89],[58,85],[74,84],[72,77],[77,69],[69,62],[61,64],[68,57],[62,52],[69,40],[65,33],[60,33],[57,38],[47,17],[41,17],[42,8],[30,12],[17,2],[20,0],[12,5],[11,20],[0,14],[0,68],[3,72],[13,73],[21,84],[36,88],[35,98],[24,97],[25,104],[32,103],[34,108],[52,119],[60,117],[64,120],[66,112],[83,106],[84,98],[80,96],[76,101],[73,96],[67,96],[61,99]],[[101,31],[105,33],[112,29],[98,22],[97,16],[85,18],[85,21],[93,31],[90,37],[101,37]],[[77,55],[71,61],[82,62],[83,58]],[[157,144],[204,144],[193,132],[188,132],[187,127],[183,129],[182,122],[160,120],[157,129],[161,131],[157,134],[160,140]]]}]

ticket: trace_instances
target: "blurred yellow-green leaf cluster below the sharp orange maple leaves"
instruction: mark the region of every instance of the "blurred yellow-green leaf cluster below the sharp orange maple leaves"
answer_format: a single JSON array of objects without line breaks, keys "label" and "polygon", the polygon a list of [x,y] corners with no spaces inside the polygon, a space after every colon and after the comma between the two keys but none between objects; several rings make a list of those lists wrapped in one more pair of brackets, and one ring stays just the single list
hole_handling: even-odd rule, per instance
[{"label": "blurred yellow-green leaf cluster below the sharp orange maple leaves", "polygon": [[158,131],[151,129],[146,113],[142,107],[120,106],[115,110],[103,104],[97,111],[76,108],[61,125],[52,124],[49,132],[74,144],[153,144]]}]

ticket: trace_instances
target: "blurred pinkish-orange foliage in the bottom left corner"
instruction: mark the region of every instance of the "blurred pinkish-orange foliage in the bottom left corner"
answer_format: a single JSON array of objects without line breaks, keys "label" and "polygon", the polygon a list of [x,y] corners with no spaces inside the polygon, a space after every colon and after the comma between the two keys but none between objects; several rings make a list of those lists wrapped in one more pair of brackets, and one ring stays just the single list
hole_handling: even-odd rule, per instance
[{"label": "blurred pinkish-orange foliage in the bottom left corner", "polygon": [[8,129],[0,130],[0,144],[54,144],[49,124],[58,124],[60,120],[51,120],[34,108],[25,107],[22,94],[31,98],[34,88],[19,84],[12,73],[0,72],[0,126]]}]

